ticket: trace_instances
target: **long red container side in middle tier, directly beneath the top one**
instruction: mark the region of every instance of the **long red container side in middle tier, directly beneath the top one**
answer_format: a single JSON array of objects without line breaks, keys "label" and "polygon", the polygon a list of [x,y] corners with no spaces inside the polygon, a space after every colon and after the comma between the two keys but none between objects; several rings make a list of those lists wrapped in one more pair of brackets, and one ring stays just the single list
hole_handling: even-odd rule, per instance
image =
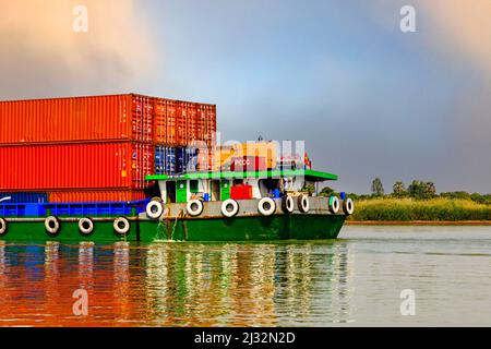
[{"label": "long red container side in middle tier, directly beneath the top one", "polygon": [[143,189],[154,148],[142,143],[0,147],[0,190]]}]

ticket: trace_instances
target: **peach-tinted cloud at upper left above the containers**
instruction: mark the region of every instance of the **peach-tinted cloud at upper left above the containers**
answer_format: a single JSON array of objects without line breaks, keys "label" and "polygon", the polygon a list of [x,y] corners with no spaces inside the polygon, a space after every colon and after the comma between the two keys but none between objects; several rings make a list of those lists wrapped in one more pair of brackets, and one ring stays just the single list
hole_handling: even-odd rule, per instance
[{"label": "peach-tinted cloud at upper left above the containers", "polygon": [[[152,75],[152,35],[133,0],[0,0],[2,98],[95,94]],[[73,9],[88,10],[75,33]]]}]

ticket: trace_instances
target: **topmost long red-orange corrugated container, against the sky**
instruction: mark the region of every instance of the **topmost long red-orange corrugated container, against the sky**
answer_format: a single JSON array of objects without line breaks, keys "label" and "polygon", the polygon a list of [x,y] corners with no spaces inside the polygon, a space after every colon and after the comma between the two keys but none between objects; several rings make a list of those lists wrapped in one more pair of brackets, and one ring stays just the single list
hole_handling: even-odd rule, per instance
[{"label": "topmost long red-orange corrugated container, against the sky", "polygon": [[153,100],[112,95],[0,101],[0,144],[152,142]]}]

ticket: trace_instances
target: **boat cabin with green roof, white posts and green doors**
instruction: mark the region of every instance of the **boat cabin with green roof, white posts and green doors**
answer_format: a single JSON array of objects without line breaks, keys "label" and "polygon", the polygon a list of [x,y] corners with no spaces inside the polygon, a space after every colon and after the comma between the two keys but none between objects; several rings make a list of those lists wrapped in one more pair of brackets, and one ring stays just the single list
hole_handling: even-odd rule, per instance
[{"label": "boat cabin with green roof, white posts and green doors", "polygon": [[226,201],[282,197],[288,193],[315,195],[318,183],[337,180],[336,174],[314,170],[268,170],[255,172],[190,172],[181,176],[155,174],[164,203],[191,200]]}]

